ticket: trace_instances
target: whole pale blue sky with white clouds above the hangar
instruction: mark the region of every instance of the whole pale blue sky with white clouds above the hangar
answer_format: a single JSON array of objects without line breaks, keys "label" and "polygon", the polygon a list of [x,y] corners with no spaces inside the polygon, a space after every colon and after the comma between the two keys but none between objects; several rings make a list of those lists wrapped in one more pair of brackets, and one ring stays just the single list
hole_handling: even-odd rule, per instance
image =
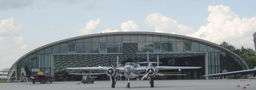
[{"label": "whole pale blue sky with white clouds above the hangar", "polygon": [[254,48],[256,1],[0,0],[0,70],[55,41],[100,32],[162,32]]}]

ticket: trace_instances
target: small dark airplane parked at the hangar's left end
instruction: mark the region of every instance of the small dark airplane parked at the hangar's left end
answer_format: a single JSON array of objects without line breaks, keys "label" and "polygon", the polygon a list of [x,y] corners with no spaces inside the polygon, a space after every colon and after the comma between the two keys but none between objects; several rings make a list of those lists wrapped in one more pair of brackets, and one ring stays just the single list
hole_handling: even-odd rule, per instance
[{"label": "small dark airplane parked at the hangar's left end", "polygon": [[43,73],[31,74],[31,72],[28,70],[28,67],[26,65],[25,65],[25,72],[26,72],[25,77],[28,77],[29,79],[31,79],[33,84],[35,84],[36,80],[40,80],[42,83],[46,83],[48,80],[50,80],[50,83],[52,83],[52,80],[54,80],[54,77],[44,75]]}]

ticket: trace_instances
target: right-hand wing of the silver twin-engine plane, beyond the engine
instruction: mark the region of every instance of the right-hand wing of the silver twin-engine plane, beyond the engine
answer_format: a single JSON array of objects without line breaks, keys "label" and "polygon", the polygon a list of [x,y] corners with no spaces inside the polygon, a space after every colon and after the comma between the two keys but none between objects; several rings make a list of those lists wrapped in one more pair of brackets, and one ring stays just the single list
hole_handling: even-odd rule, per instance
[{"label": "right-hand wing of the silver twin-engine plane, beyond the engine", "polygon": [[202,67],[166,67],[166,66],[156,67],[157,70],[197,69],[197,68],[202,68]]}]

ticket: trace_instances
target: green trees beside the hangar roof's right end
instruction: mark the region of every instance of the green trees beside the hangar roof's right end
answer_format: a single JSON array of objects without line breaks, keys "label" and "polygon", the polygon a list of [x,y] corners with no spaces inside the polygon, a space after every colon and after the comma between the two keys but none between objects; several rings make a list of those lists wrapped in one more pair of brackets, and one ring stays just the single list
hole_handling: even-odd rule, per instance
[{"label": "green trees beside the hangar roof's right end", "polygon": [[220,46],[225,47],[225,48],[233,51],[237,55],[239,55],[249,65],[249,68],[254,68],[256,66],[255,51],[251,47],[245,48],[245,47],[242,46],[239,49],[239,48],[234,47],[232,44],[228,44],[225,41],[222,42],[220,44]]}]

